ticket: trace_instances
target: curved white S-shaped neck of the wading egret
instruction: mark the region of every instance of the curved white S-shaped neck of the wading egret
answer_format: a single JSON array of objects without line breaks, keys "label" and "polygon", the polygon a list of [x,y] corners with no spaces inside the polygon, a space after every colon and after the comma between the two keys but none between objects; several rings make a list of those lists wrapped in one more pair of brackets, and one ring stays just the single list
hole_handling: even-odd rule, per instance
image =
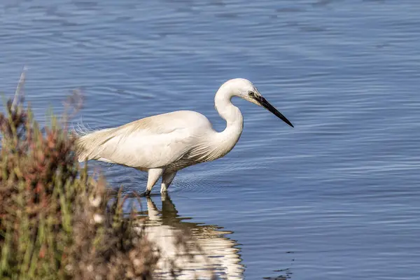
[{"label": "curved white S-shaped neck of the wading egret", "polygon": [[230,87],[222,86],[214,97],[214,105],[219,115],[226,120],[226,128],[223,132],[218,132],[216,141],[221,156],[229,153],[237,144],[244,128],[244,118],[237,106],[233,105],[230,99],[236,94],[232,92]]}]

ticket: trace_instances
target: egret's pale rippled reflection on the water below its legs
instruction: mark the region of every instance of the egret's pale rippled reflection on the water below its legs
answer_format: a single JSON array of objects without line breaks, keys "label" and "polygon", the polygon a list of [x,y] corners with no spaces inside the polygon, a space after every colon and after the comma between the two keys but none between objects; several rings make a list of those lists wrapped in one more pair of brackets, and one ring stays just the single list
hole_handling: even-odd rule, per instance
[{"label": "egret's pale rippled reflection on the water below its legs", "polygon": [[[227,237],[232,232],[223,231],[216,225],[186,221],[191,218],[179,216],[168,195],[162,195],[160,199],[162,210],[156,207],[151,197],[146,198],[147,211],[141,211],[140,214],[147,218],[142,225],[145,226],[148,239],[160,248],[163,260],[176,257],[176,265],[183,268],[177,279],[211,279],[211,272],[216,274],[216,279],[243,279],[244,266],[241,265],[239,244]],[[177,255],[178,249],[174,245],[179,233],[186,229],[193,235],[195,244],[200,247],[200,252],[193,252],[193,259]],[[170,275],[170,271],[163,265],[163,260],[158,267],[160,275],[165,279],[165,276]]]}]

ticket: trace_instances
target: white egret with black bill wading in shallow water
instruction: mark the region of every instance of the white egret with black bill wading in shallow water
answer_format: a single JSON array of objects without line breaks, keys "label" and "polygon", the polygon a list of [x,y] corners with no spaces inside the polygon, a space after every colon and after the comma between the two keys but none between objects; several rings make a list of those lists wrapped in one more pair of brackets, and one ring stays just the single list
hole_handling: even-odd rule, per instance
[{"label": "white egret with black bill wading in shallow water", "polygon": [[223,83],[214,97],[216,111],[227,124],[223,132],[195,111],[163,113],[80,135],[78,161],[99,160],[148,172],[147,196],[162,176],[160,192],[165,193],[180,169],[222,158],[237,144],[244,120],[232,97],[262,106],[293,127],[249,80],[235,78]]}]

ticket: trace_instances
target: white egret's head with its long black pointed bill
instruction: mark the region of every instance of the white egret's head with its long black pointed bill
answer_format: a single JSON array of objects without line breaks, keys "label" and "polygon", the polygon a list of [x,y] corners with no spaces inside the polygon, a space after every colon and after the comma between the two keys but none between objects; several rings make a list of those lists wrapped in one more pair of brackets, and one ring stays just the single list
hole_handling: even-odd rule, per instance
[{"label": "white egret's head with its long black pointed bill", "polygon": [[251,83],[251,81],[246,80],[244,78],[235,78],[232,80],[228,80],[226,83],[222,85],[222,87],[228,87],[230,92],[237,97],[241,97],[248,102],[253,104],[257,104],[258,106],[262,106],[268,111],[272,112],[275,116],[283,120],[283,122],[293,127],[292,123],[283,116],[272,104],[269,104],[267,100],[262,97],[260,92],[258,92],[257,88]]}]

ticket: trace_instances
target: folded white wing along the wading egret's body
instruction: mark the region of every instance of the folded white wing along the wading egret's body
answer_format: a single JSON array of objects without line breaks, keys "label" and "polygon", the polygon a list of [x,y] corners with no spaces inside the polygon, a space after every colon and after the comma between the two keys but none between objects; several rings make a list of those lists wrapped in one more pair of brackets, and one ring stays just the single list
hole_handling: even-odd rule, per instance
[{"label": "folded white wing along the wading egret's body", "polygon": [[164,167],[192,151],[197,135],[212,130],[206,117],[176,111],[142,118],[78,139],[78,160],[102,160],[144,169]]}]

